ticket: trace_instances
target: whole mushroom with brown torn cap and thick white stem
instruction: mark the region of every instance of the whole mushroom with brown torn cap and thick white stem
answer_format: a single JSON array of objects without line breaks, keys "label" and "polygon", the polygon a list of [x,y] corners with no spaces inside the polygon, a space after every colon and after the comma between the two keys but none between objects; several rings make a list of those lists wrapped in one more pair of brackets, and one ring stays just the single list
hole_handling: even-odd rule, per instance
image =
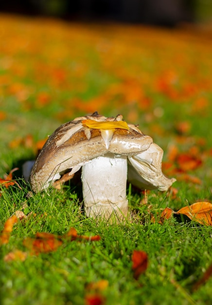
[{"label": "whole mushroom with brown torn cap and thick white stem", "polygon": [[[126,181],[141,189],[166,191],[176,180],[161,172],[162,149],[122,115],[97,112],[57,128],[39,153],[30,174],[35,192],[82,167],[84,208],[88,217],[127,214]],[[127,177],[128,175],[128,177]]]}]

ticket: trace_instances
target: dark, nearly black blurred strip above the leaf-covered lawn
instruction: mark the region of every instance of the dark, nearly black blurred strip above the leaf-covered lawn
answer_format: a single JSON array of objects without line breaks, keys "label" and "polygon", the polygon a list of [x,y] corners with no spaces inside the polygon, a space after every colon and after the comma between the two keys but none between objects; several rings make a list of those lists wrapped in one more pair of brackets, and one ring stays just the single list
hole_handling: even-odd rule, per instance
[{"label": "dark, nearly black blurred strip above the leaf-covered lawn", "polygon": [[115,20],[174,26],[212,18],[211,0],[7,0],[0,11],[68,20]]}]

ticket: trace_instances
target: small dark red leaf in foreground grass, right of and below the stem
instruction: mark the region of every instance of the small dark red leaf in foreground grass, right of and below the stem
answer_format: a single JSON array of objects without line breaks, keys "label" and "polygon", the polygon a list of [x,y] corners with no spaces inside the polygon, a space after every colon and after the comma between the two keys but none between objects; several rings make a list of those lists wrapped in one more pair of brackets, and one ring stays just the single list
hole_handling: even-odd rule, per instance
[{"label": "small dark red leaf in foreground grass, right of and below the stem", "polygon": [[138,280],[141,273],[146,271],[148,265],[148,257],[146,252],[141,250],[134,250],[132,254],[132,263],[134,278]]}]

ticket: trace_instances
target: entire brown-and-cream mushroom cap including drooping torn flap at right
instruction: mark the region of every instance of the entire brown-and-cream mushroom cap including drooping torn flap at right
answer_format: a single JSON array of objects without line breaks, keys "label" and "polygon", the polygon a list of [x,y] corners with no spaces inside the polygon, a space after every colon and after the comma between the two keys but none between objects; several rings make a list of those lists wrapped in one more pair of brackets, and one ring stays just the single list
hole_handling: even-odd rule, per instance
[{"label": "entire brown-and-cream mushroom cap including drooping torn flap at right", "polygon": [[166,191],[176,181],[163,175],[163,150],[150,136],[121,114],[114,118],[95,112],[61,125],[48,138],[30,174],[32,190],[45,190],[65,171],[73,174],[108,153],[127,156],[128,180],[141,189]]}]

